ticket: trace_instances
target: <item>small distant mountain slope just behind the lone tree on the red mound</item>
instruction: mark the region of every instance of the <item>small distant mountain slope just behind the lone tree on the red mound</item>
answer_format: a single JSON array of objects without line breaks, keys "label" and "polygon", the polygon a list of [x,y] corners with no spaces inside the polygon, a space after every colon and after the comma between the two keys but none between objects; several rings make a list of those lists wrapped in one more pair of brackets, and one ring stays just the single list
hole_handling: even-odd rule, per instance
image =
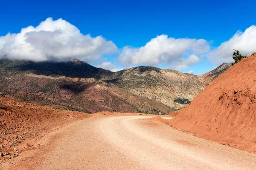
[{"label": "small distant mountain slope just behind the lone tree on the red mound", "polygon": [[208,85],[230,67],[231,67],[231,63],[223,63],[220,66],[218,66],[216,69],[198,76],[198,80]]}]

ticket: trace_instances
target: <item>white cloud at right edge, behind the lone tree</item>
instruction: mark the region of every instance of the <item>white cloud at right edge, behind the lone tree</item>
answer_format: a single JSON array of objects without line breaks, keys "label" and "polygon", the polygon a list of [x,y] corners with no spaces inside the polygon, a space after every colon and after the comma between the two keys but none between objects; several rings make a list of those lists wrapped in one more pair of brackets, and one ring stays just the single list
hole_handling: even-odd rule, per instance
[{"label": "white cloud at right edge, behind the lone tree", "polygon": [[239,50],[242,55],[249,55],[256,51],[256,26],[250,26],[244,32],[240,30],[229,40],[221,43],[218,48],[209,52],[207,57],[216,64],[233,62],[233,49]]}]

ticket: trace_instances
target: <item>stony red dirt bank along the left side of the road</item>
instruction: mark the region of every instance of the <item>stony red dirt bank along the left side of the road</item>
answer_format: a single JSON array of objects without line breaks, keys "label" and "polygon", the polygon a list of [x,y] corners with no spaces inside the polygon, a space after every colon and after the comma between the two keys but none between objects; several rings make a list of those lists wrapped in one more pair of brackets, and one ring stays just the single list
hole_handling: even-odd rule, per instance
[{"label": "stony red dirt bank along the left side of the road", "polygon": [[0,153],[17,147],[26,139],[40,137],[49,130],[88,117],[87,113],[17,102],[0,95]]}]

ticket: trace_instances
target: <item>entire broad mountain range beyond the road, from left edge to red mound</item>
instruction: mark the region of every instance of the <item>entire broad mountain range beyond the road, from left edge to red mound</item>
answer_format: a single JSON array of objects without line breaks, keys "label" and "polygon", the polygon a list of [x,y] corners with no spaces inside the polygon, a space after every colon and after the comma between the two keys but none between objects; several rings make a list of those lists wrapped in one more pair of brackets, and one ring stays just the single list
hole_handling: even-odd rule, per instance
[{"label": "entire broad mountain range beyond the road, from left edge to red mound", "polygon": [[87,113],[169,113],[205,86],[198,76],[151,66],[111,72],[79,60],[0,60],[0,91],[7,97]]}]

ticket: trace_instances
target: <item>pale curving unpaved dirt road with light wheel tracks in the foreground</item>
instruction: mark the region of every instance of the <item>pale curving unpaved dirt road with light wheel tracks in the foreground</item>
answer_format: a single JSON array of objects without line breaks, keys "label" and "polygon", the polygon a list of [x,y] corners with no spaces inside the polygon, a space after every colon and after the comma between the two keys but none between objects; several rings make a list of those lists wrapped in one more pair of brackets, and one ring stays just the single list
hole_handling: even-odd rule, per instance
[{"label": "pale curving unpaved dirt road with light wheel tracks in the foreground", "polygon": [[[184,133],[148,116],[99,116],[47,134],[0,167],[10,170],[254,170],[256,154]],[[40,146],[39,146],[40,144]]]}]

